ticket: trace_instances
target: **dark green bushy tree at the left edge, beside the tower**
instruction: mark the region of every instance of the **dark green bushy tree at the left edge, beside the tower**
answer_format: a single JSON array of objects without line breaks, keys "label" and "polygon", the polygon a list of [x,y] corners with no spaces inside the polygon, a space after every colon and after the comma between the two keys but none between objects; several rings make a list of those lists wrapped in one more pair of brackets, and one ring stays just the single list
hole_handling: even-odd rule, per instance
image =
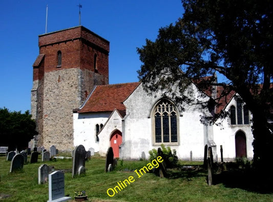
[{"label": "dark green bushy tree at the left edge, beside the tower", "polygon": [[0,138],[1,146],[8,146],[9,150],[22,150],[28,147],[28,142],[37,134],[35,121],[31,119],[29,111],[9,111],[0,108]]}]

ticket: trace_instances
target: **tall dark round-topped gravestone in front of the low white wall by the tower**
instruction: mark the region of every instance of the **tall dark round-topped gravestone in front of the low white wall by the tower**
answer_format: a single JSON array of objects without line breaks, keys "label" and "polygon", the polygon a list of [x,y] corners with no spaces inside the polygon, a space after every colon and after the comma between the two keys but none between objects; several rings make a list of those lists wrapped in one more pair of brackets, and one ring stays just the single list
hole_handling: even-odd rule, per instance
[{"label": "tall dark round-topped gravestone in front of the low white wall by the tower", "polygon": [[85,172],[86,164],[86,149],[83,145],[78,145],[74,149],[73,153],[73,167],[72,167],[72,177],[76,174],[80,175]]}]

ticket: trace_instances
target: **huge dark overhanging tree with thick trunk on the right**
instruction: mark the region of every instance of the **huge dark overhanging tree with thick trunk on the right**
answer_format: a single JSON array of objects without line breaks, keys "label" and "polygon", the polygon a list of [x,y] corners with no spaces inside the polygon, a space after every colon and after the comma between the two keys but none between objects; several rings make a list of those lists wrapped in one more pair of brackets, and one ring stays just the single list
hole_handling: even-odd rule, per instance
[{"label": "huge dark overhanging tree with thick trunk on the right", "polygon": [[[183,94],[192,81],[204,89],[222,86],[221,98],[237,92],[253,115],[254,163],[264,164],[273,146],[273,127],[268,123],[273,101],[272,1],[182,0],[182,4],[184,14],[175,25],[160,28],[154,42],[146,39],[145,46],[137,49],[143,63],[139,79],[150,93],[172,92],[177,86],[181,96],[175,99],[181,103],[194,101]],[[215,73],[223,77],[221,82],[215,82]],[[209,104],[219,103],[219,97],[212,99]]]}]

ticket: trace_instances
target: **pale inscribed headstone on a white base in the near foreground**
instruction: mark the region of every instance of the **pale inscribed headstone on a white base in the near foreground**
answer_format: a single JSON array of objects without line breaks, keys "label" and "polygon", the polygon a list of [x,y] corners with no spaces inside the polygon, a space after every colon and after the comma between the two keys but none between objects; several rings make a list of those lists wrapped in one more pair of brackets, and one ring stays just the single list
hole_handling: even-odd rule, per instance
[{"label": "pale inscribed headstone on a white base in the near foreground", "polygon": [[65,174],[60,171],[54,171],[49,174],[49,200],[50,201],[66,201],[71,197],[65,196]]}]

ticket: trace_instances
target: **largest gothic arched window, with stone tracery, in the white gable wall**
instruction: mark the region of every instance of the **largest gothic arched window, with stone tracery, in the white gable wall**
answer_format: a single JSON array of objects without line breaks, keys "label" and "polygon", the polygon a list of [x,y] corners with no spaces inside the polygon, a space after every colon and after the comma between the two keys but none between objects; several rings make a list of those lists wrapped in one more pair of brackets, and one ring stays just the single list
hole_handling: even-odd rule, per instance
[{"label": "largest gothic arched window, with stone tracery, in the white gable wall", "polygon": [[154,109],[155,143],[178,143],[178,113],[169,100],[160,101]]}]

